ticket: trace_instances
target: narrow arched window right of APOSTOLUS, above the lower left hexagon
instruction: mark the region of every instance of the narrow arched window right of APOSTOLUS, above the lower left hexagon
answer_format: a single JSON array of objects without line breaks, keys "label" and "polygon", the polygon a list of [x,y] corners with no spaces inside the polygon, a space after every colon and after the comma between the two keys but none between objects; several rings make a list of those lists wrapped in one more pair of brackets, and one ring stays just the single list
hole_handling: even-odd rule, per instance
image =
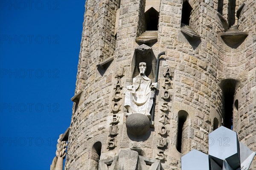
[{"label": "narrow arched window right of APOSTOLUS, above the lower left hexagon", "polygon": [[177,151],[180,153],[186,153],[187,150],[187,139],[189,132],[189,114],[180,110],[178,112],[178,132],[177,132]]}]

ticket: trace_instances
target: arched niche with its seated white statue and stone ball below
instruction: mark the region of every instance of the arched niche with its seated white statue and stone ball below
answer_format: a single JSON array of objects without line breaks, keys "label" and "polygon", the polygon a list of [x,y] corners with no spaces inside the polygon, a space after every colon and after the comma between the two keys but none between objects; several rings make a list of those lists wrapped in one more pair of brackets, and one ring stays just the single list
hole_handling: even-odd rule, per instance
[{"label": "arched niche with its seated white statue and stone ball below", "polygon": [[126,127],[128,135],[144,135],[148,132],[151,109],[157,84],[154,83],[156,58],[151,47],[143,44],[135,49],[132,59],[132,82],[126,86],[124,107],[128,110]]}]

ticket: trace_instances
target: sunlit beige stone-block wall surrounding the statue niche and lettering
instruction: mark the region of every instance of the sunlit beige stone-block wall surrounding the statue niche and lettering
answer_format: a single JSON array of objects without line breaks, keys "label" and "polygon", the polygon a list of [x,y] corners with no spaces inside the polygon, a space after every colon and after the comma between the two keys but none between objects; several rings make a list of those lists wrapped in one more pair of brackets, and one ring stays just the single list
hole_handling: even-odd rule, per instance
[{"label": "sunlit beige stone-block wall surrounding the statue niche and lettering", "polygon": [[[223,1],[223,8],[226,8],[228,0]],[[224,28],[217,16],[218,0],[189,0],[193,8],[189,26],[201,37],[199,40],[189,39],[180,31],[183,0],[161,0],[158,40],[150,46],[154,56],[160,52],[166,54],[162,56],[164,59],[160,59],[154,128],[146,135],[135,138],[127,134],[127,111],[123,103],[126,86],[131,85],[132,81],[134,50],[139,46],[135,38],[138,30],[143,30],[138,24],[141,23],[139,16],[144,11],[145,0],[121,0],[116,41],[113,37],[111,41],[108,39],[108,35],[114,31],[115,22],[111,29],[108,24],[107,28],[102,29],[106,32],[104,36],[100,35],[102,40],[96,36],[100,33],[96,31],[95,24],[100,18],[112,24],[119,2],[87,0],[75,94],[83,92],[76,112],[73,108],[65,170],[89,169],[91,148],[97,141],[102,143],[100,160],[114,158],[121,150],[137,148],[140,150],[139,155],[143,153],[140,156],[161,159],[164,170],[180,169],[180,158],[186,154],[177,150],[180,110],[189,115],[184,129],[187,151],[196,149],[208,154],[208,134],[213,131],[214,118],[218,119],[218,126],[223,122],[225,99],[219,85],[225,79],[239,81],[234,95],[234,106],[238,100],[238,109],[234,110],[233,130],[237,132],[239,141],[256,151],[256,1],[236,1],[238,6],[245,3],[238,20],[238,29],[248,32],[248,36],[237,46],[230,46],[219,35],[224,32]],[[114,4],[114,9],[111,4]],[[102,5],[102,8],[96,8],[97,5]],[[105,11],[108,11],[108,17]],[[224,18],[227,18],[227,10],[223,12]],[[104,49],[106,51],[103,50],[103,58],[114,55],[113,62],[105,68],[97,66],[99,55],[96,55],[96,51],[101,42],[109,45],[109,50],[108,47]],[[122,68],[124,76],[116,78]],[[168,68],[173,72],[170,80],[172,85],[165,84],[168,82],[165,76]],[[120,98],[113,101],[119,79],[123,89],[118,94]],[[117,107],[114,103],[120,107],[116,114],[112,112]],[[166,103],[168,113],[163,111],[167,108]],[[111,124],[115,116],[119,122]],[[169,124],[166,124],[166,120],[163,123],[163,117]],[[114,141],[110,141],[110,128],[115,126],[118,127],[118,135],[112,135]],[[163,126],[169,130],[168,135],[161,135]],[[109,148],[113,144],[110,142],[115,144],[114,148]],[[166,146],[159,147],[165,142]],[[256,169],[256,161],[251,164],[251,169]]]}]

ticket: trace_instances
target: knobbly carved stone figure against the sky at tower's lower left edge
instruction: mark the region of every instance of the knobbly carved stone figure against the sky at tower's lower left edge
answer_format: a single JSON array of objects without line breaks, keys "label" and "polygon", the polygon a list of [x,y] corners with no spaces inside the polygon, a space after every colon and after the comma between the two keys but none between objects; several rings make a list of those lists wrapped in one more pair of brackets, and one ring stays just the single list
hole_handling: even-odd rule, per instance
[{"label": "knobbly carved stone figure against the sky at tower's lower left edge", "polygon": [[66,156],[67,141],[60,141],[63,134],[59,136],[56,156],[54,157],[50,170],[63,170],[63,159]]}]

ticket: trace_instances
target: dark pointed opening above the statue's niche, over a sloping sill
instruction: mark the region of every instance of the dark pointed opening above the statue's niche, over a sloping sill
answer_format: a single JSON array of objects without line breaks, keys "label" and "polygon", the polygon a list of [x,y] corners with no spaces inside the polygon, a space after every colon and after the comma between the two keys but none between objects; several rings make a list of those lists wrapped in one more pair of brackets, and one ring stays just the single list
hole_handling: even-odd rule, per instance
[{"label": "dark pointed opening above the statue's niche, over a sloping sill", "polygon": [[157,31],[159,12],[153,7],[145,12],[145,19],[147,23],[146,31]]}]

